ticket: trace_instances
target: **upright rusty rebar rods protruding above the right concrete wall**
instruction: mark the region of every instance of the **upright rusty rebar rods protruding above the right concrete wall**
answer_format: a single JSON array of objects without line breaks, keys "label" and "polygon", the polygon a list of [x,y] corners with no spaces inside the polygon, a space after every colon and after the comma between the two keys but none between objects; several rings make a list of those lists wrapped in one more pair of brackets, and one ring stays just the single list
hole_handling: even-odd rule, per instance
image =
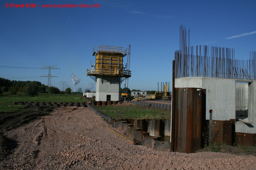
[{"label": "upright rusty rebar rods protruding above the right concrete wall", "polygon": [[[210,55],[209,55],[210,53]],[[250,52],[250,60],[234,59],[234,49],[204,46],[188,46],[186,28],[180,26],[179,50],[175,51],[175,78],[212,77],[256,80],[256,52]]]}]

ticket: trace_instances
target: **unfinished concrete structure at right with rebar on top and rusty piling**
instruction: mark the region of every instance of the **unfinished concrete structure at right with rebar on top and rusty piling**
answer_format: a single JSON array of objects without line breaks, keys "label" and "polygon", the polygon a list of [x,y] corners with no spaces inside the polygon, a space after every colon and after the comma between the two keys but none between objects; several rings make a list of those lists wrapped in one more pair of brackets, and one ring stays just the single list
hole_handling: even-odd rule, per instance
[{"label": "unfinished concrete structure at right with rebar on top and rusty piling", "polygon": [[196,46],[194,54],[184,37],[181,26],[173,61],[172,150],[190,153],[214,142],[255,146],[255,51],[249,60],[234,59],[233,49],[220,47],[201,52]]}]

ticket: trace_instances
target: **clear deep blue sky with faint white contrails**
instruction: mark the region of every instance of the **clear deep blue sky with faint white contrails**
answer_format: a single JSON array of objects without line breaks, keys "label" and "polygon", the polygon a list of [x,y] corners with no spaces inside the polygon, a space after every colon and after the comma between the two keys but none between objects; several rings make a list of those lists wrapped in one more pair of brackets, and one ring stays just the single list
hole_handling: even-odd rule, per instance
[{"label": "clear deep blue sky with faint white contrails", "polygon": [[[11,4],[37,7],[14,8]],[[43,8],[42,4],[99,4],[100,7]],[[60,69],[51,69],[51,75],[58,76],[51,78],[51,86],[62,90],[64,81],[73,90],[71,74],[74,74],[81,79],[75,91],[94,85],[93,91],[95,83],[86,76],[87,69],[91,69],[90,61],[95,62],[93,46],[96,51],[98,45],[124,49],[131,45],[132,76],[128,88],[157,91],[157,82],[172,84],[172,60],[179,49],[180,25],[190,28],[190,45],[234,48],[235,59],[247,60],[250,51],[256,50],[255,9],[253,0],[2,0],[0,77],[47,84],[47,77],[40,76],[47,75],[48,69],[36,68],[57,65]]]}]

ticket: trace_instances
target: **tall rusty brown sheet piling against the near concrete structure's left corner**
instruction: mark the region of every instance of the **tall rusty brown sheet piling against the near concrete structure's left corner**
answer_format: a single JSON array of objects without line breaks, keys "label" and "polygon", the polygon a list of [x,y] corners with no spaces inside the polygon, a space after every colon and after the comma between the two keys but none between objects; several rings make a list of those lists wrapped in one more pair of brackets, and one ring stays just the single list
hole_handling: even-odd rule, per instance
[{"label": "tall rusty brown sheet piling against the near concrete structure's left corner", "polygon": [[176,152],[193,153],[203,143],[205,89],[176,88],[174,111],[174,148]]}]

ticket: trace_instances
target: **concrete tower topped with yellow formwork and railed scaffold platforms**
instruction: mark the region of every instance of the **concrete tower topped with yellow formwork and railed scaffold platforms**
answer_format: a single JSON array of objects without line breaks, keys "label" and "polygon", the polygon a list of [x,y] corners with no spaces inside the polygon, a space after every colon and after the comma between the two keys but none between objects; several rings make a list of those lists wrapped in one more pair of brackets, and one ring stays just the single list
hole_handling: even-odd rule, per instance
[{"label": "concrete tower topped with yellow formwork and railed scaffold platforms", "polygon": [[127,54],[127,48],[114,46],[98,46],[97,53],[94,51],[95,64],[93,69],[87,70],[87,76],[90,76],[96,82],[95,101],[120,101],[121,83],[131,77],[131,71],[123,67],[123,57]]}]

